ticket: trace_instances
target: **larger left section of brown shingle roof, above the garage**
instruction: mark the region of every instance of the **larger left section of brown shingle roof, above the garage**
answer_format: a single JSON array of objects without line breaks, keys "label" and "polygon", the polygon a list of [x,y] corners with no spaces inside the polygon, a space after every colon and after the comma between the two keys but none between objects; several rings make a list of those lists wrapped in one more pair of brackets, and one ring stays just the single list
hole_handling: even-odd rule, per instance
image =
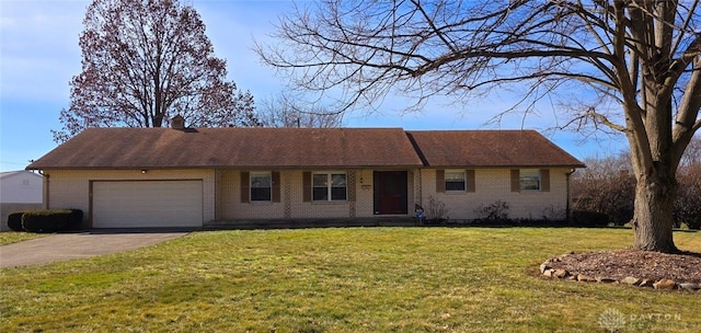
[{"label": "larger left section of brown shingle roof, above the garage", "polygon": [[401,128],[89,128],[27,169],[421,165]]}]

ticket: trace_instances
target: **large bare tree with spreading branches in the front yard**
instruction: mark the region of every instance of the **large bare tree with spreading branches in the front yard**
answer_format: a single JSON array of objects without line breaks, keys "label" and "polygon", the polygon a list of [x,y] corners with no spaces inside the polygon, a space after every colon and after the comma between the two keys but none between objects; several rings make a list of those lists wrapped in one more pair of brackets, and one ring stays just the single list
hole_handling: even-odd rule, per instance
[{"label": "large bare tree with spreading branches in the front yard", "polygon": [[257,53],[303,89],[342,88],[346,106],[507,88],[526,112],[576,105],[570,125],[628,138],[633,248],[675,252],[675,174],[701,127],[700,13],[699,0],[326,0],[281,18]]}]

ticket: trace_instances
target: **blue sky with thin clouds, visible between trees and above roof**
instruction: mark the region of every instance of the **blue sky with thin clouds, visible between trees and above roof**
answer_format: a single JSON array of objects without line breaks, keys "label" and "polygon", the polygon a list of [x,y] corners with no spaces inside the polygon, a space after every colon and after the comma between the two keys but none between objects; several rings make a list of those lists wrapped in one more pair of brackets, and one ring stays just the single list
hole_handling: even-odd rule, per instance
[{"label": "blue sky with thin clouds, visible between trees and above roof", "polygon": [[[0,0],[0,171],[24,169],[56,147],[50,129],[60,129],[58,115],[69,104],[70,79],[80,72],[78,37],[89,1]],[[253,41],[267,41],[272,23],[292,8],[290,1],[193,0],[207,25],[216,55],[228,61],[230,79],[250,90],[257,101],[279,94],[284,78],[261,64]],[[348,127],[406,129],[532,128],[576,158],[606,156],[625,149],[623,138],[585,138],[570,131],[545,131],[556,125],[555,111],[543,105],[526,119],[514,114],[501,124],[487,124],[509,100],[494,94],[458,111],[436,101],[425,110],[402,113],[411,101],[388,97],[381,112],[355,112],[344,117]]]}]

